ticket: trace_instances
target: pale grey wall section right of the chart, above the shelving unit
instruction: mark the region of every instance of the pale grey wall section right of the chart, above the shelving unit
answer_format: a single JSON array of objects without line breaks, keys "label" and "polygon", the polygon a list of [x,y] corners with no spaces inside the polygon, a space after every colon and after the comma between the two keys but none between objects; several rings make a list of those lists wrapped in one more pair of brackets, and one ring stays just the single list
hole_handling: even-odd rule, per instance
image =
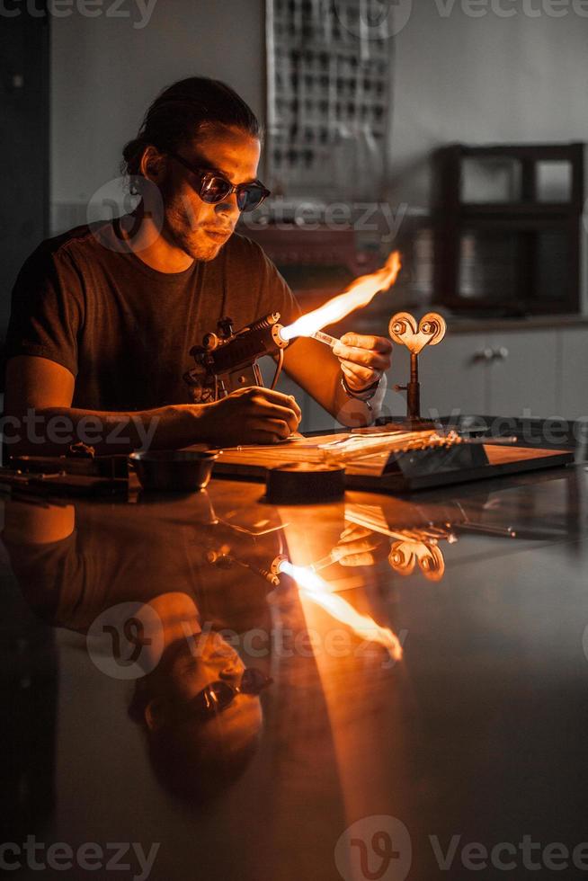
[{"label": "pale grey wall section right of the chart, above the shelving unit", "polygon": [[459,2],[443,18],[442,5],[415,0],[395,40],[391,172],[411,205],[428,205],[426,160],[440,144],[588,140],[588,18],[471,18]]}]

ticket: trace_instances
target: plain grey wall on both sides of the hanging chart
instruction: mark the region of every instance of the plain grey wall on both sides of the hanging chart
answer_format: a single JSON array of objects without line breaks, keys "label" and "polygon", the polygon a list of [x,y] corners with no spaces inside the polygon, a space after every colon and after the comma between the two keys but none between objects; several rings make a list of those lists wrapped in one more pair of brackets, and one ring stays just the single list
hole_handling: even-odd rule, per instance
[{"label": "plain grey wall on both sides of the hanging chart", "polygon": [[[527,0],[539,11],[543,0]],[[194,73],[234,85],[263,114],[263,0],[157,0],[147,25],[79,13],[52,21],[54,226],[118,174],[120,147],[164,86]],[[401,0],[407,9],[410,0]],[[109,6],[105,0],[104,9]],[[451,13],[443,17],[443,9]],[[427,159],[447,141],[587,140],[588,18],[472,18],[448,0],[414,0],[394,40],[393,201],[425,207]],[[477,7],[479,13],[480,7]],[[563,10],[559,9],[559,12]],[[76,205],[79,206],[76,208]],[[82,221],[84,217],[82,216]]]}]

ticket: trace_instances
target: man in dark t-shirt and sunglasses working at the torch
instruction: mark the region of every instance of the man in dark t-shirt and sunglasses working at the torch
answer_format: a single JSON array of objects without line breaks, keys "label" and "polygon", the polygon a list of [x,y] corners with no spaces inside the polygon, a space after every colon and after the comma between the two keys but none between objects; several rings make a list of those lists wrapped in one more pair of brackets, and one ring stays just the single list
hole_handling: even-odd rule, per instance
[{"label": "man in dark t-shirt and sunglasses working at the torch", "polygon": [[[227,85],[192,77],[156,98],[123,154],[138,209],[44,242],[16,282],[11,452],[63,452],[76,441],[98,452],[272,443],[298,427],[291,396],[250,387],[198,405],[183,382],[190,349],[219,318],[238,328],[271,312],[283,323],[298,315],[261,248],[234,235],[241,211],[267,192],[260,151],[259,122]],[[390,350],[354,334],[333,353],[298,339],[284,366],[335,418],[368,423]]]}]

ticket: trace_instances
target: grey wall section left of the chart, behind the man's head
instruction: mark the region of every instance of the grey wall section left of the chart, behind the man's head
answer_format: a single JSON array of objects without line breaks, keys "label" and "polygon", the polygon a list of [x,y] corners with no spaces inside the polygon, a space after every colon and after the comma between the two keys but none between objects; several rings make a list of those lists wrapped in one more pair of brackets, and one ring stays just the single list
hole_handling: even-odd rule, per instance
[{"label": "grey wall section left of the chart, behind the man's head", "polygon": [[119,174],[121,148],[165,85],[216,76],[263,114],[263,8],[263,0],[157,0],[138,29],[135,0],[125,0],[129,18],[73,13],[52,21],[54,227],[85,221],[86,201]]}]

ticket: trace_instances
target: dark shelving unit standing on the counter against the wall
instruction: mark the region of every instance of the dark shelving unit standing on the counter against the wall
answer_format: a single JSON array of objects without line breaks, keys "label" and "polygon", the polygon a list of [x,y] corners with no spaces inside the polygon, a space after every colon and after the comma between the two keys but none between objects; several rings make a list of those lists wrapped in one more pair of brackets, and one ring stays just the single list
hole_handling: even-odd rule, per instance
[{"label": "dark shelving unit standing on the counter against the wall", "polygon": [[512,316],[578,312],[584,145],[456,144],[433,165],[435,302]]}]

